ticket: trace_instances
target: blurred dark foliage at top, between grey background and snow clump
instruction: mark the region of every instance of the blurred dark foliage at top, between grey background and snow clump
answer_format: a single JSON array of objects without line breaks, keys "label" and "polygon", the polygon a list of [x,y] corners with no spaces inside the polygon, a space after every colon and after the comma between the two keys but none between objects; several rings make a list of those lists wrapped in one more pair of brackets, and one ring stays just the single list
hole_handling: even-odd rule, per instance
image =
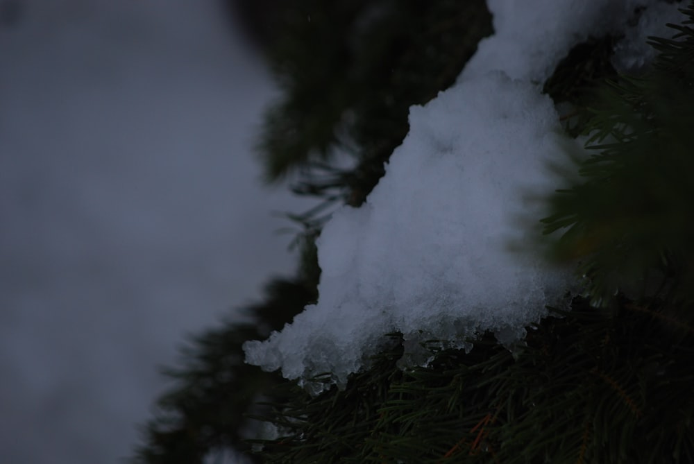
[{"label": "blurred dark foliage at top, between grey background and snow clump", "polygon": [[[407,114],[450,86],[491,31],[484,1],[287,2],[271,61],[283,98],[266,114],[269,179],[360,205],[409,129]],[[335,153],[354,157],[335,169]],[[323,169],[325,168],[325,169]]]}]

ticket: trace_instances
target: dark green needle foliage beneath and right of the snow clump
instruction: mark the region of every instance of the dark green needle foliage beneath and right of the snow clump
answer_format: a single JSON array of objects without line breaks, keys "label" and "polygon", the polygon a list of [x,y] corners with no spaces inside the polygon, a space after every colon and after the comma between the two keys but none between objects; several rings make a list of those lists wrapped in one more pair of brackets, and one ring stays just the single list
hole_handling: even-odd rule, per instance
[{"label": "dark green needle foliage beneath and right of the snow clump", "polygon": [[[311,397],[294,387],[289,402],[273,404],[269,420],[282,433],[260,442],[266,462],[694,462],[684,298],[694,288],[693,47],[691,30],[679,31],[685,40],[654,39],[652,74],[614,76],[607,37],[577,47],[545,85],[557,102],[593,105],[579,126],[600,153],[579,161],[582,182],[557,194],[545,223],[548,232],[570,227],[555,252],[584,257],[602,307],[574,300],[572,311],[528,328],[514,353],[485,334],[469,354],[437,352],[427,368],[403,371],[395,343],[345,390]],[[606,77],[618,79],[611,93],[593,92]],[[641,290],[638,300],[614,297],[614,273]],[[649,291],[657,273],[664,285]]]}]

